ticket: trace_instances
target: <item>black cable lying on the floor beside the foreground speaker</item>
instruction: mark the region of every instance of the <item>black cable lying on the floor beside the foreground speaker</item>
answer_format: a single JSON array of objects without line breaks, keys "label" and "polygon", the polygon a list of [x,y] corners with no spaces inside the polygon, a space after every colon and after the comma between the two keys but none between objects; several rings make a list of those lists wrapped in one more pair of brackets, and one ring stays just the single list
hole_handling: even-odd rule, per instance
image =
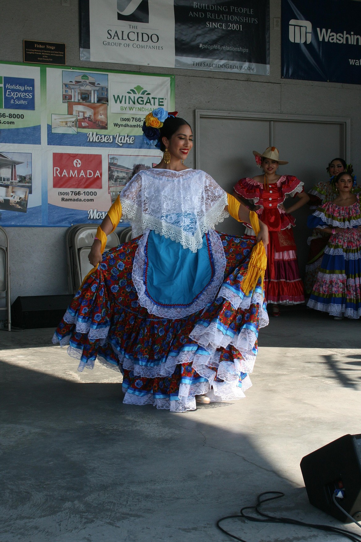
[{"label": "black cable lying on the floor beside the foreground speaker", "polygon": [[[261,497],[263,495],[275,495],[275,496],[269,497],[268,499],[261,500]],[[237,514],[237,515],[227,515],[226,517],[219,519],[216,522],[216,526],[223,533],[228,534],[229,537],[232,537],[235,540],[239,540],[240,542],[246,542],[246,540],[244,540],[242,538],[239,538],[239,537],[235,536],[234,534],[229,533],[224,528],[222,528],[220,526],[221,521],[224,521],[226,519],[231,519],[231,518],[244,518],[244,519],[248,519],[250,521],[257,521],[257,522],[260,522],[260,523],[284,523],[284,524],[289,524],[289,525],[299,525],[301,527],[311,527],[311,528],[314,528],[314,529],[318,529],[320,531],[326,531],[326,532],[335,533],[335,534],[342,534],[346,538],[349,538],[350,540],[352,540],[353,542],[361,542],[361,535],[351,533],[350,531],[347,531],[346,529],[342,529],[342,528],[339,528],[339,527],[332,527],[331,525],[319,525],[319,524],[313,524],[313,523],[305,523],[304,521],[299,521],[297,519],[274,517],[272,515],[268,515],[268,514],[265,514],[264,512],[260,511],[259,507],[262,504],[264,504],[264,502],[273,501],[274,499],[280,499],[284,495],[285,494],[282,493],[281,491],[265,491],[264,493],[260,493],[257,496],[257,505],[255,505],[255,506],[244,506],[243,508],[241,508],[239,514]],[[257,517],[251,516],[251,515],[246,515],[244,513],[244,510],[254,510],[254,512],[259,514],[261,516],[261,518],[267,518],[267,519],[261,519],[261,518],[257,518]]]}]

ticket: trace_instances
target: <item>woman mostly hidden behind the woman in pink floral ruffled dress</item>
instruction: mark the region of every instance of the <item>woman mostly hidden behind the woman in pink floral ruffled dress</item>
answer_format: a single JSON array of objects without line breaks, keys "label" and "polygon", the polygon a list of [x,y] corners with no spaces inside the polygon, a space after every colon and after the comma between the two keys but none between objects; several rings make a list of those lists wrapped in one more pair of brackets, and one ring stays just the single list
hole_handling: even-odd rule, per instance
[{"label": "woman mostly hidden behind the woman in pink floral ruffled dress", "polygon": [[[310,208],[314,211],[320,205],[324,203],[331,202],[336,197],[336,192],[334,191],[334,185],[332,184],[332,179],[337,177],[338,173],[347,171],[352,175],[353,168],[352,164],[346,164],[345,160],[342,158],[334,158],[331,160],[329,165],[326,167],[327,172],[330,175],[330,180],[328,182],[320,182],[315,184],[312,189],[309,191],[310,196]],[[361,187],[356,185],[353,186],[353,191],[358,193],[361,190]],[[306,263],[306,277],[305,277],[305,291],[307,294],[312,292],[312,287],[316,282],[317,274],[320,269],[321,261],[324,255],[325,247],[329,242],[330,235],[325,232],[325,230],[320,230],[315,228],[312,231],[312,235],[307,239],[307,243],[310,246],[309,257]]]}]

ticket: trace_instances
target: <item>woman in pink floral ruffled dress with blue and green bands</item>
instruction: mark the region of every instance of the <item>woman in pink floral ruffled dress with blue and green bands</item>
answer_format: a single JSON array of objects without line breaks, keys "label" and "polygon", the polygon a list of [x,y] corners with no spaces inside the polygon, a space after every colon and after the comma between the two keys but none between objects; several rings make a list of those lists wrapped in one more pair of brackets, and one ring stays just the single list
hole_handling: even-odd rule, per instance
[{"label": "woman in pink floral ruffled dress with blue and green bands", "polygon": [[330,238],[307,305],[335,320],[361,316],[361,207],[352,184],[350,173],[339,173],[334,179],[336,199],[309,217],[309,226]]}]

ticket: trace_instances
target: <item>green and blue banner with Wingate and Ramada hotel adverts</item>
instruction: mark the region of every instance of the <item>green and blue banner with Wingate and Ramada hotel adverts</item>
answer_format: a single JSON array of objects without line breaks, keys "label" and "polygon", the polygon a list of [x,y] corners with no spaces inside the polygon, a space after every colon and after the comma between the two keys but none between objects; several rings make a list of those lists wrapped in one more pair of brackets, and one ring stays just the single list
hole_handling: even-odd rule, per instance
[{"label": "green and blue banner with Wingate and Ramada hotel adverts", "polygon": [[0,225],[100,223],[132,176],[162,153],[143,142],[174,75],[0,62]]}]

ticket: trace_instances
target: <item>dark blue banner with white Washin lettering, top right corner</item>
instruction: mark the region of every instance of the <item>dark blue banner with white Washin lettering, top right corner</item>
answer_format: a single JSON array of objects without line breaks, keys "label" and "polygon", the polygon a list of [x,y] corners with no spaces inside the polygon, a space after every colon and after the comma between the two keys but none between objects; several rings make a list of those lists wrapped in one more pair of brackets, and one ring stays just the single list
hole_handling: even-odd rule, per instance
[{"label": "dark blue banner with white Washin lettering, top right corner", "polygon": [[282,0],[281,21],[284,78],[360,84],[360,2]]}]

